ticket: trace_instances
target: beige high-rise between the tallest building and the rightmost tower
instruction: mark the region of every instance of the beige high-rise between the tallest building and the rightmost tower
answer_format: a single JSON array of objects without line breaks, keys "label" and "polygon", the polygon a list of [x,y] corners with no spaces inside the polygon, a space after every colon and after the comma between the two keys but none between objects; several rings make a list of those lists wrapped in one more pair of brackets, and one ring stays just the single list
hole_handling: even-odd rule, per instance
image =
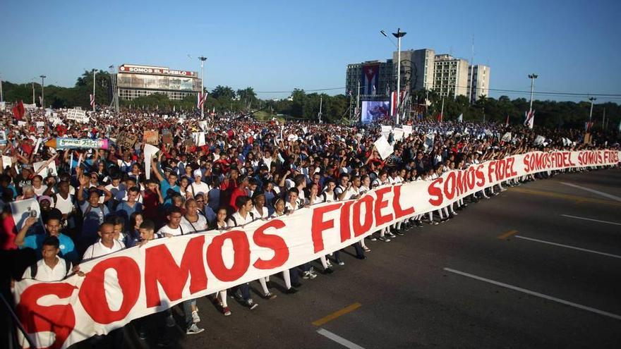
[{"label": "beige high-rise between the tallest building and the rightmost tower", "polygon": [[436,54],[433,90],[445,97],[468,95],[468,61],[450,54]]}]

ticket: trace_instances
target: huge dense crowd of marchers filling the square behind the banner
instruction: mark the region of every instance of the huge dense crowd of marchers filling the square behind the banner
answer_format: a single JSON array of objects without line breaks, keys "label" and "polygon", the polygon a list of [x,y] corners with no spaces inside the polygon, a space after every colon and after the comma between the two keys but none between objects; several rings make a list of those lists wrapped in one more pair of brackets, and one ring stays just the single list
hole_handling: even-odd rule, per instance
[{"label": "huge dense crowd of marchers filling the square behind the banner", "polygon": [[[65,113],[33,110],[20,121],[8,112],[0,114],[5,140],[0,142],[0,246],[19,255],[13,259],[16,279],[59,281],[80,274],[80,262],[153,239],[243,226],[313,204],[354,199],[382,185],[433,180],[445,171],[512,154],[619,149],[615,133],[591,133],[590,142],[584,142],[584,130],[416,121],[410,123],[411,134],[385,133],[394,152],[382,159],[374,147],[382,137],[380,125],[260,122],[236,114],[200,119],[191,113],[116,114],[107,109],[80,122],[68,120]],[[147,139],[147,130],[157,131],[155,141]],[[135,139],[121,142],[121,133]],[[109,145],[46,145],[56,137],[106,139]],[[145,159],[149,143],[159,152]],[[42,161],[55,170],[33,167]],[[551,175],[515,178],[382,229],[354,244],[356,257],[366,259],[371,242],[390,243],[410,228],[452,219],[507,185]],[[36,200],[39,206],[21,226],[13,218],[18,212],[11,212],[11,203],[20,200]],[[338,251],[285,271],[287,293],[299,290],[300,278],[332,273],[334,264],[344,265]],[[258,286],[265,300],[277,297],[269,278],[258,280]],[[249,310],[258,306],[248,283],[228,292]],[[231,315],[228,295],[222,290],[211,298],[224,316]],[[203,331],[195,300],[183,302],[182,308],[186,333]],[[136,323],[141,338],[153,324],[176,326],[170,310]]]}]

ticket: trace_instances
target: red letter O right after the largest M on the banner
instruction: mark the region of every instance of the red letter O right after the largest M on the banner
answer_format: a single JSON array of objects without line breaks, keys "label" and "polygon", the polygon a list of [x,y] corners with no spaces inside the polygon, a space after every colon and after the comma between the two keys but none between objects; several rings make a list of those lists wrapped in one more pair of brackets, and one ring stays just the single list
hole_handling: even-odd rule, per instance
[{"label": "red letter O right after the largest M on the banner", "polygon": [[[233,266],[229,269],[224,265],[222,246],[224,241],[231,239],[233,243]],[[207,247],[207,266],[220,281],[235,281],[246,274],[250,267],[250,243],[243,231],[228,231],[213,238]]]}]

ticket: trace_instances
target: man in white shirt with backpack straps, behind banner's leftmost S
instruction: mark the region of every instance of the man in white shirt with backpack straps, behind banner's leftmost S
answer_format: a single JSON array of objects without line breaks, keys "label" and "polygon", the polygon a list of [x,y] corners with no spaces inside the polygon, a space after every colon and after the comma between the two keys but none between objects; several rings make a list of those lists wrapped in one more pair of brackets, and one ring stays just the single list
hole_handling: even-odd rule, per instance
[{"label": "man in white shirt with backpack straps, behind banner's leftmost S", "polygon": [[26,268],[22,278],[34,278],[38,281],[61,281],[71,270],[71,262],[58,257],[60,252],[59,239],[50,235],[43,240],[41,255],[35,264]]}]

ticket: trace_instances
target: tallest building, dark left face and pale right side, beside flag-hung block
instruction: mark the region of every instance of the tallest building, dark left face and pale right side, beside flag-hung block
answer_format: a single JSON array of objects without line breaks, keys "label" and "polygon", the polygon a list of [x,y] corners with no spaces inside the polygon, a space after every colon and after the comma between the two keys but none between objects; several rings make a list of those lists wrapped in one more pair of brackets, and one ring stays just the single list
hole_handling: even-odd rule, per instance
[{"label": "tallest building, dark left face and pale right side, beside flag-hung block", "polygon": [[[397,62],[398,52],[392,53],[392,61]],[[433,87],[433,68],[435,51],[416,49],[401,51],[401,90],[410,93],[416,90],[430,90]],[[393,64],[392,75],[397,77],[397,64]],[[397,79],[393,80],[391,90],[397,90]]]}]

